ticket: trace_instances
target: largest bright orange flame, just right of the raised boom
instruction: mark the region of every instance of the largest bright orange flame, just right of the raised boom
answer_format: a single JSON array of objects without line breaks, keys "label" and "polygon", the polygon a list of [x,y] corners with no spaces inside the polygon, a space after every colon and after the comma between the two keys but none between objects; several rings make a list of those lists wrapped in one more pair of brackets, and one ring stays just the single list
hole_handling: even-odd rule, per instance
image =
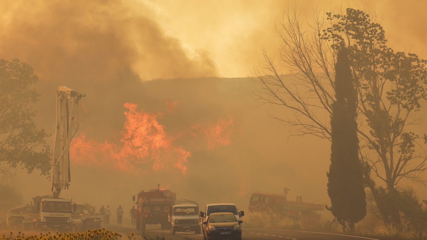
[{"label": "largest bright orange flame, just right of the raised boom", "polygon": [[86,140],[82,134],[71,142],[70,157],[73,161],[98,165],[112,162],[123,170],[150,162],[153,170],[174,166],[185,174],[190,152],[173,145],[173,138],[165,134],[164,126],[157,121],[161,114],[137,111],[137,105],[133,103],[125,103],[124,107],[129,111],[125,112],[126,122],[120,140],[123,146],[119,148],[107,141]]}]

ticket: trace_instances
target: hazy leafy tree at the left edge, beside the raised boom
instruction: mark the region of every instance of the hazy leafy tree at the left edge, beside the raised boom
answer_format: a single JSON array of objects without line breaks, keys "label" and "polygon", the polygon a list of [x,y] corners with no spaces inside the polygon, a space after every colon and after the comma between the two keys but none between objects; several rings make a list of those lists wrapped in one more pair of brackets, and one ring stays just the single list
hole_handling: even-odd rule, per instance
[{"label": "hazy leafy tree at the left edge, beside the raised boom", "polygon": [[32,88],[38,77],[29,64],[0,59],[0,173],[12,175],[18,165],[48,175],[50,146],[44,129],[37,129],[32,104],[39,94]]}]

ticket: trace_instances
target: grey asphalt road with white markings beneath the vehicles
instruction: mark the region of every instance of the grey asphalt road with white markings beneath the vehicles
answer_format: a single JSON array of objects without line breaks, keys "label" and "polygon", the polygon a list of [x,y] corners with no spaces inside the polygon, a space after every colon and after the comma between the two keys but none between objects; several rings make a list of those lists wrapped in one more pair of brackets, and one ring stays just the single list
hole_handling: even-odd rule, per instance
[{"label": "grey asphalt road with white markings beneath the vehicles", "polygon": [[[135,227],[129,225],[106,224],[106,229],[118,231],[124,234],[130,234],[132,231],[138,233]],[[291,230],[269,230],[256,228],[242,228],[243,240],[396,240],[389,237],[365,236],[365,235],[345,235],[338,233],[322,233],[310,231],[291,231]],[[165,237],[171,240],[182,240],[183,238],[192,240],[203,240],[202,234],[194,232],[176,232],[175,236],[170,235],[169,230],[161,230],[160,225],[147,225],[146,230],[149,235]]]}]

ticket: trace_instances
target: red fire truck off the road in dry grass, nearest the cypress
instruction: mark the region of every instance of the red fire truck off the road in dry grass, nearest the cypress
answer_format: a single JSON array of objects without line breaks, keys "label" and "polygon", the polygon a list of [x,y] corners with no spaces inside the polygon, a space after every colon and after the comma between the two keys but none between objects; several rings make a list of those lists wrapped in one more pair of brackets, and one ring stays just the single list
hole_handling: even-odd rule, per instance
[{"label": "red fire truck off the road in dry grass, nearest the cypress", "polygon": [[319,219],[320,215],[316,211],[323,211],[325,205],[302,202],[302,197],[297,196],[296,201],[287,200],[287,192],[261,193],[256,192],[249,201],[249,211],[272,211],[276,214],[289,217],[314,217]]}]

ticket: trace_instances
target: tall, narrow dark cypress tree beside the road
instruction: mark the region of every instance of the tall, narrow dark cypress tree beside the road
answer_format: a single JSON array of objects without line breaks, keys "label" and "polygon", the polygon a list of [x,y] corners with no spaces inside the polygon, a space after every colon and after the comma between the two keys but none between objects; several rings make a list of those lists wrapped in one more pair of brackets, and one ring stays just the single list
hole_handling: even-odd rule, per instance
[{"label": "tall, narrow dark cypress tree beside the road", "polygon": [[366,216],[363,166],[357,138],[357,92],[350,70],[348,51],[340,50],[335,64],[335,95],[332,104],[331,156],[328,176],[328,208],[338,222],[350,231]]}]

